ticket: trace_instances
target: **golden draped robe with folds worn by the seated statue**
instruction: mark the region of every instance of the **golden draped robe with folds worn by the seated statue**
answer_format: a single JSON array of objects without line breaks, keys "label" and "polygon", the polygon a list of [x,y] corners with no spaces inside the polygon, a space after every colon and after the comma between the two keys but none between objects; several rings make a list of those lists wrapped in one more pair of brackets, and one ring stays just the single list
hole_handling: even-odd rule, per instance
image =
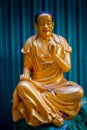
[{"label": "golden draped robe with folds worn by the seated statue", "polygon": [[[71,53],[67,42],[63,45],[61,36],[52,34],[53,42],[62,44],[64,54]],[[27,67],[32,70],[29,81],[20,81],[13,93],[13,121],[25,119],[29,125],[52,123],[61,126],[65,119],[74,118],[81,107],[84,95],[82,87],[67,81],[54,60],[41,61],[37,52],[38,37],[34,35],[24,45],[22,52],[27,57]]]}]

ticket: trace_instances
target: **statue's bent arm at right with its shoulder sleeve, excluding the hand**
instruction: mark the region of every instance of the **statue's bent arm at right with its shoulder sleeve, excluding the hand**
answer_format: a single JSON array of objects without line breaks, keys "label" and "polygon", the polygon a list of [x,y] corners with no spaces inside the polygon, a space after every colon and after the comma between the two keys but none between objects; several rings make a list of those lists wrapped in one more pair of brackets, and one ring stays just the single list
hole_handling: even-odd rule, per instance
[{"label": "statue's bent arm at right with its shoulder sleeve, excluding the hand", "polygon": [[61,70],[69,72],[71,69],[70,53],[72,52],[72,48],[69,46],[65,38],[60,37],[60,39],[61,42],[57,46],[57,52],[54,55],[54,59]]}]

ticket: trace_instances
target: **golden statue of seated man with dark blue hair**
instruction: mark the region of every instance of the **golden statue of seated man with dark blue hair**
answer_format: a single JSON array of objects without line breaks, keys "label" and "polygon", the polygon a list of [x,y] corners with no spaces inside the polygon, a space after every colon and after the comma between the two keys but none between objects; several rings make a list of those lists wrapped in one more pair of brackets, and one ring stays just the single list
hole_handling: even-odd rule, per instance
[{"label": "golden statue of seated man with dark blue hair", "polygon": [[25,119],[32,126],[52,123],[59,127],[78,114],[84,91],[64,78],[63,72],[71,69],[72,48],[62,36],[52,33],[50,12],[37,13],[35,21],[38,34],[22,48],[24,68],[13,93],[13,121]]}]

